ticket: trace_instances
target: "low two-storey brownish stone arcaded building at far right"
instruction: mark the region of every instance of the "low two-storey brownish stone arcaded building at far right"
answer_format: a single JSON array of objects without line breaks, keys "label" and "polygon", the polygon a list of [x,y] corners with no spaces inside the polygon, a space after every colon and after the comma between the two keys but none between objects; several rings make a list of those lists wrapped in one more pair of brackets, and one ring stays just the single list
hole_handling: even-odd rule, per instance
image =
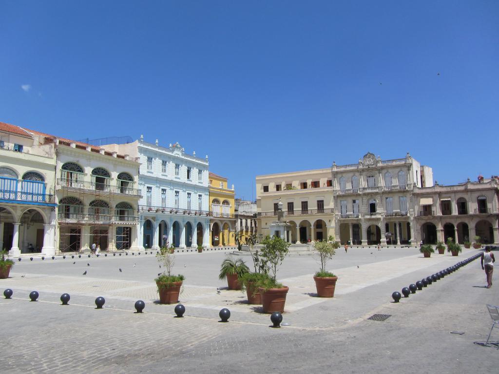
[{"label": "low two-storey brownish stone arcaded building at far right", "polygon": [[413,202],[416,237],[435,244],[452,238],[459,244],[475,242],[499,243],[499,181],[497,178],[478,182],[433,187],[415,187]]}]

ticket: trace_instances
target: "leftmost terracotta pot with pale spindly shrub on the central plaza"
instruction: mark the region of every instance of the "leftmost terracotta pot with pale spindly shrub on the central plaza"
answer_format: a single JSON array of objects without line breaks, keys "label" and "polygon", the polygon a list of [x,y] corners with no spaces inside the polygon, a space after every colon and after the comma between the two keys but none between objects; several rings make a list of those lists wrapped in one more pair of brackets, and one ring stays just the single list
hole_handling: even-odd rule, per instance
[{"label": "leftmost terracotta pot with pale spindly shrub on the central plaza", "polygon": [[161,304],[173,304],[179,301],[180,289],[185,277],[182,274],[172,275],[172,268],[175,265],[175,255],[170,248],[164,246],[156,253],[158,262],[163,264],[165,271],[156,279],[158,286],[159,302]]}]

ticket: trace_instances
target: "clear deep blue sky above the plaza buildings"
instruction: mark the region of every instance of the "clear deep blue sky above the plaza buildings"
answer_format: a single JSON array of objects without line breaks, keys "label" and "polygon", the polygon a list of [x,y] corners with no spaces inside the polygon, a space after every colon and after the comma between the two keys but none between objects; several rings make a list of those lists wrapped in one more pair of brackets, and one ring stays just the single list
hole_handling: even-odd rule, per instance
[{"label": "clear deep blue sky above the plaza buildings", "polygon": [[368,151],[499,174],[496,0],[3,0],[0,43],[0,121],[178,141],[241,197]]}]

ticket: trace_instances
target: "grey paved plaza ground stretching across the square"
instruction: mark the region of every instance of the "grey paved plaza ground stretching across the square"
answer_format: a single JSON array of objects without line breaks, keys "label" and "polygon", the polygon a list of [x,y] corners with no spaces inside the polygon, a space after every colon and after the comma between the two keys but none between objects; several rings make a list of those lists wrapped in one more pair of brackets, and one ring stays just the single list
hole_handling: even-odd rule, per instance
[{"label": "grey paved plaza ground stretching across the square", "polygon": [[[498,286],[483,287],[480,260],[401,303],[391,299],[474,249],[429,259],[417,248],[339,249],[328,266],[339,277],[333,299],[315,297],[316,258],[287,257],[278,279],[290,288],[283,314],[290,325],[281,329],[269,328],[269,315],[218,279],[227,255],[220,252],[176,255],[174,273],[186,276],[180,296],[186,314],[174,318],[174,306],[157,303],[154,278],[163,269],[154,253],[16,261],[10,278],[0,280],[1,290],[14,291],[13,300],[0,300],[2,373],[492,373],[499,367],[499,352],[483,346],[492,324],[485,305],[499,304]],[[243,258],[251,268],[251,258]],[[32,290],[38,302],[28,301]],[[69,306],[60,305],[64,292]],[[97,296],[106,299],[102,310],[95,309]],[[133,313],[139,299],[143,314]],[[232,313],[227,324],[218,322],[224,307]],[[391,317],[368,320],[373,314]]]}]

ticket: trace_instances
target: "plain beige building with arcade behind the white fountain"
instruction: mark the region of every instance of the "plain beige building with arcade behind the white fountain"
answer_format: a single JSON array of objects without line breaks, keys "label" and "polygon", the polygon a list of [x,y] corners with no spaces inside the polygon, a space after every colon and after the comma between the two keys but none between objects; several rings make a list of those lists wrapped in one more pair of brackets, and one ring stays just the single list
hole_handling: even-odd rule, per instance
[{"label": "plain beige building with arcade behind the white fountain", "polygon": [[270,235],[277,220],[277,204],[291,225],[291,242],[326,240],[334,235],[334,202],[331,169],[269,174],[256,177],[258,234]]}]

